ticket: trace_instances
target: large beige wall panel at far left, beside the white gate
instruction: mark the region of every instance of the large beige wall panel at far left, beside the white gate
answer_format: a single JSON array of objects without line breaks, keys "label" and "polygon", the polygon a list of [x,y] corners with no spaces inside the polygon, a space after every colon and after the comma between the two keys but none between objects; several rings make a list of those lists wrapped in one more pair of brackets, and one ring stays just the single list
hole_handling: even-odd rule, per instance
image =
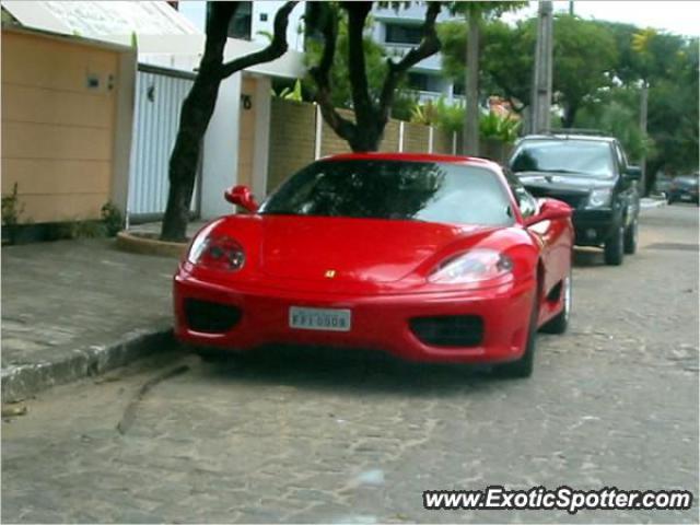
[{"label": "large beige wall panel at far left, beside the white gate", "polygon": [[120,61],[115,49],[3,28],[2,194],[18,183],[21,222],[97,219],[110,199]]}]

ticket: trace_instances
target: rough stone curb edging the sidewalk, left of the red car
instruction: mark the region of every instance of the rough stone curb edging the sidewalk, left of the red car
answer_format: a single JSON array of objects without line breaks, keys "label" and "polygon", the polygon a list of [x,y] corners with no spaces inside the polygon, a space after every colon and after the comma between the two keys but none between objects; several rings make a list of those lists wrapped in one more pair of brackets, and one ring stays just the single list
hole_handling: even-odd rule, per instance
[{"label": "rough stone curb edging the sidewalk, left of the red car", "polygon": [[0,374],[2,402],[20,401],[51,386],[95,376],[173,348],[171,327],[139,329],[106,346],[75,349],[71,357],[58,361],[4,366]]}]

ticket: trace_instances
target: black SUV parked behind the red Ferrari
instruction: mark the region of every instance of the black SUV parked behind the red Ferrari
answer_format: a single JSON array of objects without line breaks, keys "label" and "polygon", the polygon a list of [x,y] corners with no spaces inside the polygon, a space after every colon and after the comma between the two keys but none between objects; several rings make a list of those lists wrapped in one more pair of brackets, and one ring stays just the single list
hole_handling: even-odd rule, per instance
[{"label": "black SUV parked behind the red Ferrari", "polygon": [[627,163],[615,138],[575,131],[526,136],[509,167],[535,197],[573,208],[575,244],[603,246],[608,265],[637,250],[641,171]]}]

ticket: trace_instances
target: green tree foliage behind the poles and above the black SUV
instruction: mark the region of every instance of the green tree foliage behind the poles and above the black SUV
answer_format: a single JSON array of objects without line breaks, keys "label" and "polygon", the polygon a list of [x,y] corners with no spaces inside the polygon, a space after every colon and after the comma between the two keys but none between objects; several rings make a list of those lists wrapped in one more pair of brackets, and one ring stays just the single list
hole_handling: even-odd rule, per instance
[{"label": "green tree foliage behind the poles and above the black SUV", "polygon": [[[536,27],[536,19],[482,25],[481,97],[501,95],[515,110],[529,105]],[[464,82],[466,24],[443,23],[439,32],[444,71]],[[650,173],[697,170],[698,49],[697,38],[557,15],[553,91],[564,109],[563,126],[615,135],[632,159],[651,159]],[[649,85],[649,137],[639,129],[641,82]]]}]

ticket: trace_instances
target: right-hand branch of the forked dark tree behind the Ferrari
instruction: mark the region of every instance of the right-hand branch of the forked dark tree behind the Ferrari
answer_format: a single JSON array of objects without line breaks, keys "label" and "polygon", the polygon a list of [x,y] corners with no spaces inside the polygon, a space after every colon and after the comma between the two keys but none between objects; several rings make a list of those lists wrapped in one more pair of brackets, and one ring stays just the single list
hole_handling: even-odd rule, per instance
[{"label": "right-hand branch of the forked dark tree behind the Ferrari", "polygon": [[440,2],[428,2],[425,21],[423,23],[423,38],[418,47],[413,47],[410,51],[404,55],[404,58],[398,62],[395,62],[390,58],[387,59],[387,72],[386,78],[384,79],[384,85],[382,86],[378,108],[380,117],[383,121],[388,120],[392,102],[394,101],[394,93],[396,92],[398,82],[404,73],[421,60],[440,51],[442,45],[438,37],[438,32],[435,31],[435,20],[438,19],[441,7]]}]

